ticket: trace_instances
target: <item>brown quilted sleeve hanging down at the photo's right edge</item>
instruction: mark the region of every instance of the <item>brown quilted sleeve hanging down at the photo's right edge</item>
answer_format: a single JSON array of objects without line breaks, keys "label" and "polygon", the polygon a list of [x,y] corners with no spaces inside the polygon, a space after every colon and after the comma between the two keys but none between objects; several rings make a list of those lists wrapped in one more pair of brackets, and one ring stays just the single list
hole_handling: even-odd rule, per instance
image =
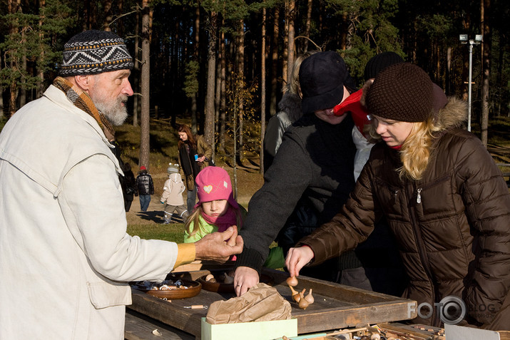
[{"label": "brown quilted sleeve hanging down at the photo's right edge", "polygon": [[510,287],[510,194],[501,171],[478,138],[461,145],[456,173],[463,183],[466,215],[474,229],[476,259],[464,301],[469,315],[486,324]]}]

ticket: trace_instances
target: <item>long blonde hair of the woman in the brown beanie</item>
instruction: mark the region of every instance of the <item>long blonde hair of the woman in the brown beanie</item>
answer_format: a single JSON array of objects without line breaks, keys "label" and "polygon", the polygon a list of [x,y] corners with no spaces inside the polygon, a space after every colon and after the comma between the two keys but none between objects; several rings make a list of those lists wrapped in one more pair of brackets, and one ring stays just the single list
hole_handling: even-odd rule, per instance
[{"label": "long blonde hair of the woman in the brown beanie", "polygon": [[[374,123],[370,124],[369,136],[372,140],[380,140],[379,134],[375,132]],[[400,160],[402,167],[397,169],[399,177],[410,180],[421,180],[424,171],[429,165],[432,141],[434,133],[441,130],[441,125],[434,123],[434,115],[430,115],[425,122],[413,123],[411,133],[400,148]]]}]

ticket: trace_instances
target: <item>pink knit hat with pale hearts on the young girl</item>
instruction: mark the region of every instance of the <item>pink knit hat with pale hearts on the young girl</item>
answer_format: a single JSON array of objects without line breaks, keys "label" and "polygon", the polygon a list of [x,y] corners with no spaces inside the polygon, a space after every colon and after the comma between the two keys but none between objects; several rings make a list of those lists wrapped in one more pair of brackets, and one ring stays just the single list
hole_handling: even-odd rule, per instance
[{"label": "pink knit hat with pale hearts on the young girl", "polygon": [[232,193],[232,182],[228,172],[219,167],[206,167],[198,172],[195,179],[197,183],[198,203],[195,209],[203,202],[214,200],[228,200],[230,205],[238,209],[238,202],[235,202]]}]

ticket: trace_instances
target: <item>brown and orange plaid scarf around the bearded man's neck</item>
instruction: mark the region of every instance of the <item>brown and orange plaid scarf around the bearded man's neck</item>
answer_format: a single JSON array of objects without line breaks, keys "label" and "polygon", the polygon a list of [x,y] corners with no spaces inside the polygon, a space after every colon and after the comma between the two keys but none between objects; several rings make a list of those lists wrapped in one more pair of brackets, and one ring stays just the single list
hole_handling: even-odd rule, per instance
[{"label": "brown and orange plaid scarf around the bearded man's neck", "polygon": [[113,126],[108,119],[106,119],[106,116],[98,111],[96,105],[94,105],[87,93],[81,91],[77,86],[74,86],[71,82],[62,77],[56,77],[53,81],[53,86],[63,91],[63,93],[66,93],[66,97],[76,108],[91,115],[96,122],[98,122],[99,127],[103,130],[108,141],[113,142],[115,140],[115,130],[113,130]]}]

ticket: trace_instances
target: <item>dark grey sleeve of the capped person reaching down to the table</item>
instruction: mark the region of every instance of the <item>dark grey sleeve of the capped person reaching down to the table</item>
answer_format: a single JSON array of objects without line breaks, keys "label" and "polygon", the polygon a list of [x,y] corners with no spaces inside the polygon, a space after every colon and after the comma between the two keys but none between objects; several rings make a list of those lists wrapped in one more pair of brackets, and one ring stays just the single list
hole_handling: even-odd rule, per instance
[{"label": "dark grey sleeve of the capped person reaching down to the table", "polygon": [[285,225],[297,201],[312,181],[312,166],[306,145],[295,135],[286,135],[269,170],[264,185],[255,192],[240,235],[245,240],[236,267],[250,267],[260,272],[269,246]]}]

